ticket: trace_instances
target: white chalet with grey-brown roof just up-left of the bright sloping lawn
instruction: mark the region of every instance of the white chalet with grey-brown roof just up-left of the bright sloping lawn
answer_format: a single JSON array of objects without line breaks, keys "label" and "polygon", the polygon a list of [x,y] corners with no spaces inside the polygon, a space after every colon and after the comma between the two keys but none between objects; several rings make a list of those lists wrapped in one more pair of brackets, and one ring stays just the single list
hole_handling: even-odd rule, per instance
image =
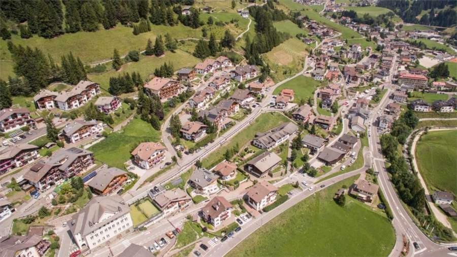
[{"label": "white chalet with grey-brown roof just up-left of the bright sloping lawn", "polygon": [[101,134],[103,125],[96,120],[85,121],[76,119],[73,123],[69,123],[62,128],[59,134],[60,140],[65,140],[68,143],[76,143],[85,138]]}]

